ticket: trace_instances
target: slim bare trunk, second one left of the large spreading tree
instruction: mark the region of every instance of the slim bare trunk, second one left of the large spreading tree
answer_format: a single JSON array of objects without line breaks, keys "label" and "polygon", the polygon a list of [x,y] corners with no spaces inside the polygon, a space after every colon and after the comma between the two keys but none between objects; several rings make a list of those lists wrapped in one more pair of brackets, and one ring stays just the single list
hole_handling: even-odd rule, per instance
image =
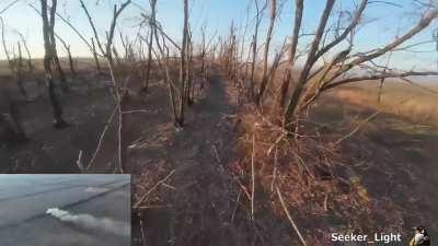
[{"label": "slim bare trunk, second one left of the large spreading tree", "polygon": [[266,35],[266,42],[265,42],[265,51],[263,56],[263,75],[262,75],[262,83],[258,89],[257,96],[255,98],[255,104],[261,106],[262,97],[263,94],[265,93],[266,85],[269,81],[268,72],[267,72],[267,60],[269,57],[269,46],[270,46],[270,39],[273,37],[273,31],[274,31],[274,24],[275,24],[275,19],[277,16],[277,0],[270,0],[270,14],[269,14],[269,28],[267,31]]}]

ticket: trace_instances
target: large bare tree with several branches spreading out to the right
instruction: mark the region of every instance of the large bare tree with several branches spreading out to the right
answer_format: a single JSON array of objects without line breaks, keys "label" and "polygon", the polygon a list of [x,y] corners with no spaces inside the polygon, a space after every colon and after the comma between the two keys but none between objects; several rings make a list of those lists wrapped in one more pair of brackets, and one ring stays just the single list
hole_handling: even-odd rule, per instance
[{"label": "large bare tree with several branches spreading out to the right", "polygon": [[[288,104],[284,114],[284,125],[288,129],[291,129],[291,122],[298,117],[301,109],[306,108],[313,101],[315,101],[322,92],[333,89],[335,86],[369,79],[405,78],[410,75],[438,74],[437,72],[396,72],[394,70],[388,70],[388,68],[384,70],[379,70],[379,68],[374,68],[372,69],[371,75],[367,74],[351,77],[347,73],[353,68],[360,69],[369,67],[366,65],[367,62],[372,63],[373,59],[379,58],[387,52],[395,50],[404,42],[418,34],[420,31],[427,27],[433,20],[438,16],[438,10],[436,8],[428,8],[416,25],[414,25],[405,34],[394,38],[385,46],[366,52],[350,55],[355,30],[360,23],[366,7],[370,2],[368,0],[361,0],[355,13],[351,14],[351,19],[344,31],[338,35],[335,35],[332,42],[325,44],[325,42],[322,42],[323,35],[324,33],[327,33],[326,25],[328,22],[328,16],[331,15],[333,10],[334,2],[334,0],[326,0],[325,8],[320,19],[320,23],[311,43],[310,49],[306,54],[307,59],[304,66],[299,74],[297,84],[291,93],[291,96],[288,99]],[[292,39],[297,38],[296,35],[298,33],[298,31],[293,31],[295,36],[292,37]],[[334,47],[343,47],[341,46],[342,42],[346,40],[348,37],[350,37],[348,40],[349,46],[346,49],[337,52],[335,56],[332,57],[330,62],[326,62],[323,67],[316,69],[315,72],[311,74],[311,70],[315,67],[315,63],[320,60],[320,58],[322,58],[328,51],[333,50]]]}]

